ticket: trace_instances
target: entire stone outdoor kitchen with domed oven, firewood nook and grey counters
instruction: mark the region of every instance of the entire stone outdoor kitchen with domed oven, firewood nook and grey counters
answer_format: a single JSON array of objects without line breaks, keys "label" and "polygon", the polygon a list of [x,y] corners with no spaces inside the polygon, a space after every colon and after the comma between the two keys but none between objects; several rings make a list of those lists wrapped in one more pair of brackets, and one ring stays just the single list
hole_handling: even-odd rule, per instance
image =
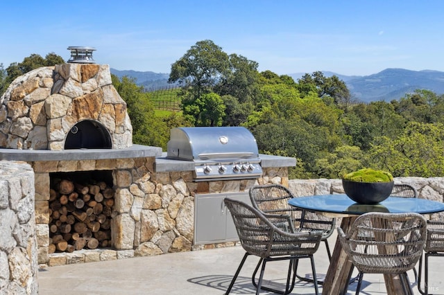
[{"label": "entire stone outdoor kitchen with domed oven, firewood nook and grey counters", "polygon": [[33,168],[40,265],[234,245],[194,242],[197,196],[288,185],[287,167],[296,165],[259,155],[262,171],[253,179],[196,181],[193,161],[134,145],[132,129],[109,66],[92,57],[35,69],[1,96],[0,160]]}]

